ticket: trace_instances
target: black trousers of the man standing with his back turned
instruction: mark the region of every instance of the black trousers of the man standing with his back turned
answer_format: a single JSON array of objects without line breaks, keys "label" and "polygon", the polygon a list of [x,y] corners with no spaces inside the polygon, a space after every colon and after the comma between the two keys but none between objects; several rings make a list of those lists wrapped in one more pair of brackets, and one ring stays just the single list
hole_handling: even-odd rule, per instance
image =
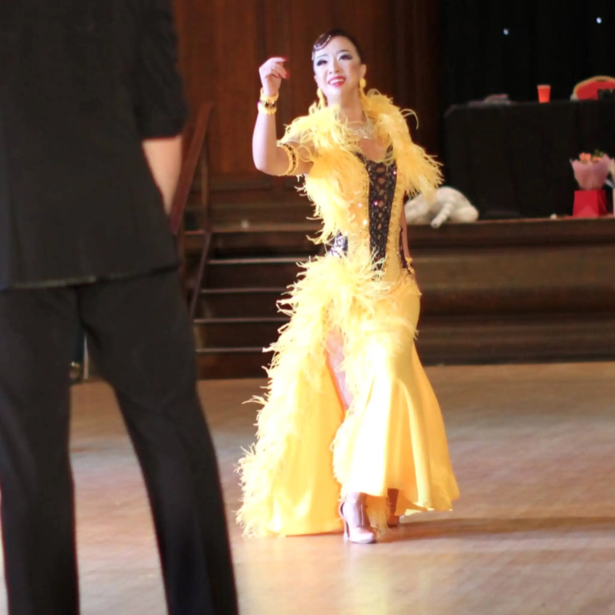
[{"label": "black trousers of the man standing with his back turned", "polygon": [[236,614],[218,467],[176,271],[0,292],[0,488],[10,614],[79,613],[68,374],[77,320],[116,392],[143,470],[169,613]]}]

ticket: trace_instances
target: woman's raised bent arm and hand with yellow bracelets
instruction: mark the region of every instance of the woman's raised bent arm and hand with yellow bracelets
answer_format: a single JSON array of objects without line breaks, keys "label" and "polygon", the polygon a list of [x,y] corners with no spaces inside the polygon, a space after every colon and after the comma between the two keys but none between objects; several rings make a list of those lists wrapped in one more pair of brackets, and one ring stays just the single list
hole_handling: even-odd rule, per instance
[{"label": "woman's raised bent arm and hand with yellow bracelets", "polygon": [[[290,74],[284,68],[286,58],[270,58],[259,69],[263,93],[276,98],[282,79]],[[277,103],[276,103],[277,104]],[[258,116],[252,136],[252,157],[256,169],[268,175],[303,175],[311,169],[311,162],[300,159],[296,144],[288,143],[287,148],[277,144],[276,114],[265,113],[263,105],[258,105]],[[293,159],[296,157],[296,160]],[[296,162],[296,164],[294,164]]]}]

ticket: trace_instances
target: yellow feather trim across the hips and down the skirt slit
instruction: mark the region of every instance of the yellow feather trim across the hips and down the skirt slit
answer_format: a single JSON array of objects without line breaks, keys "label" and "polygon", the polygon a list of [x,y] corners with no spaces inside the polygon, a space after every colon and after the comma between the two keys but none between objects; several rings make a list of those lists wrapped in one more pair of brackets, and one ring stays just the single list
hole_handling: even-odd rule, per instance
[{"label": "yellow feather trim across the hips and down the skirt slit", "polygon": [[[274,357],[266,394],[252,400],[262,406],[256,423],[257,442],[244,451],[237,467],[243,490],[237,521],[246,534],[254,536],[268,534],[276,478],[287,450],[300,438],[306,413],[317,405],[330,331],[343,335],[343,368],[356,403],[363,402],[360,393],[371,381],[366,351],[370,342],[378,339],[380,346],[395,352],[397,346],[407,346],[406,335],[415,335],[400,306],[405,293],[419,294],[408,274],[392,286],[369,263],[359,265],[335,256],[319,256],[303,267],[287,298],[280,301],[280,310],[292,318],[268,349],[274,351]],[[351,406],[346,421],[353,413]],[[342,429],[332,443],[339,449],[334,451],[333,474],[341,484],[347,471],[346,437],[351,433],[351,429]]]}]

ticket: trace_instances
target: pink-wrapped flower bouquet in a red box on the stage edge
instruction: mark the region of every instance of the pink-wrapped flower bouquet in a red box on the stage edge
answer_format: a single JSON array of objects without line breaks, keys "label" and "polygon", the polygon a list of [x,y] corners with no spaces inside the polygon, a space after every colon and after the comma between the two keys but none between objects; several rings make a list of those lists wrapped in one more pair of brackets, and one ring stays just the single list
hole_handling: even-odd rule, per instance
[{"label": "pink-wrapped flower bouquet in a red box on the stage edge", "polygon": [[613,160],[605,153],[581,154],[570,161],[580,190],[574,193],[573,216],[597,218],[606,215],[606,194],[602,189],[613,168]]}]

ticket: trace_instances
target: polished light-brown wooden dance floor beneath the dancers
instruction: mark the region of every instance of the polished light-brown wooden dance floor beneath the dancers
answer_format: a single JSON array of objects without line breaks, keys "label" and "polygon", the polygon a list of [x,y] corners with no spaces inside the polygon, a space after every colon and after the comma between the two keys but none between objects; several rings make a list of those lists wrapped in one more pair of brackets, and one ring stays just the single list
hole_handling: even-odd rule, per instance
[{"label": "polished light-brown wooden dance floor beneath the dancers", "polygon": [[[245,615],[615,613],[615,363],[432,368],[462,498],[383,544],[244,539],[234,462],[261,381],[210,381]],[[145,490],[105,384],[74,388],[84,615],[164,615]],[[0,613],[6,613],[4,589]]]}]

